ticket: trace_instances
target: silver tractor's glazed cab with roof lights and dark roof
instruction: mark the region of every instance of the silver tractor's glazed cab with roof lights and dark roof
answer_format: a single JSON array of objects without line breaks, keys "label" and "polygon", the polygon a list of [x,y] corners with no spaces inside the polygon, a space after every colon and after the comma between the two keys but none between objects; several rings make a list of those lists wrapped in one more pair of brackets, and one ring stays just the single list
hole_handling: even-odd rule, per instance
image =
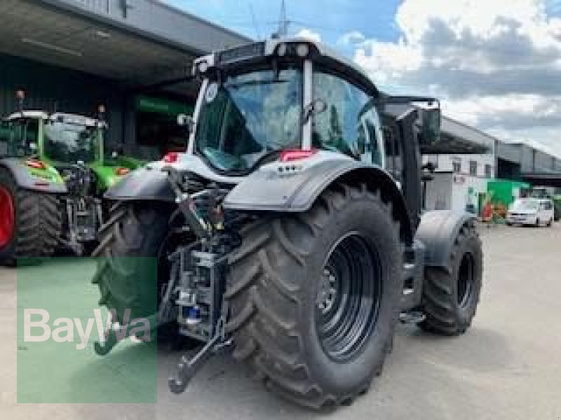
[{"label": "silver tractor's glazed cab with roof lights and dark roof", "polygon": [[201,57],[193,71],[203,83],[189,153],[216,172],[248,174],[283,151],[335,152],[382,168],[392,157],[382,119],[388,104],[404,101],[323,45],[271,39]]}]

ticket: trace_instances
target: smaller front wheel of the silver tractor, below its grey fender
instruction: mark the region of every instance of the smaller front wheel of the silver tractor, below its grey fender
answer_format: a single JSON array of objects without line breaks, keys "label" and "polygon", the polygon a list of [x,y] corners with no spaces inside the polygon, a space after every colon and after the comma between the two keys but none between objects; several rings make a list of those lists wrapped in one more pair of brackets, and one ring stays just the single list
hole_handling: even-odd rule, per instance
[{"label": "smaller front wheel of the silver tractor, below its grey fender", "polygon": [[481,240],[472,223],[464,225],[448,266],[425,269],[424,313],[419,326],[440,335],[461,335],[470,327],[482,287]]}]

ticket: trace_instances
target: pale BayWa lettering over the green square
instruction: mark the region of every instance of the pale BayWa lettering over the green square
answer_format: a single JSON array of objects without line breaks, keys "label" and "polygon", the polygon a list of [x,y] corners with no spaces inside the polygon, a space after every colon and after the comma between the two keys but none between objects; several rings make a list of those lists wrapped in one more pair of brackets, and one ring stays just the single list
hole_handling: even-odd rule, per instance
[{"label": "pale BayWa lettering over the green square", "polygon": [[[123,325],[119,328],[118,323],[112,320],[117,319],[116,311],[111,309],[107,318],[103,319],[101,309],[93,309],[93,318],[82,320],[81,318],[55,318],[52,323],[50,314],[46,309],[24,309],[23,310],[23,341],[27,343],[47,342],[52,339],[54,342],[75,342],[77,350],[86,349],[90,342],[90,337],[97,332],[99,342],[107,341],[107,332],[114,326],[113,330],[117,342],[130,337],[133,342],[149,342],[150,321],[147,318],[133,318],[130,320],[130,309],[123,312]],[[84,322],[86,321],[86,325]],[[95,326],[95,332],[94,332]]]}]

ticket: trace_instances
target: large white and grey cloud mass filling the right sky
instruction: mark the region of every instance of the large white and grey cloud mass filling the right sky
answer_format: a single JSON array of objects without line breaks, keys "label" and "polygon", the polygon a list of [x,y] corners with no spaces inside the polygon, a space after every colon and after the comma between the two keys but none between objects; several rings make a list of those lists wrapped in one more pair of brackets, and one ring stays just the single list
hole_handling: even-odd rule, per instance
[{"label": "large white and grey cloud mass filling the right sky", "polygon": [[355,44],[379,85],[436,94],[453,118],[561,154],[549,137],[561,132],[561,20],[543,1],[404,0],[396,23],[398,41]]}]

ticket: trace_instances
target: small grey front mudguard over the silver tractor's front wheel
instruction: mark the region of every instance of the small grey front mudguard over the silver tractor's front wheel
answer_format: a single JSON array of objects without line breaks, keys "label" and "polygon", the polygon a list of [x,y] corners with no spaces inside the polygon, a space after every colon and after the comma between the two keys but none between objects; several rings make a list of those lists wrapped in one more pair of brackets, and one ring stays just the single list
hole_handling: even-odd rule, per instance
[{"label": "small grey front mudguard over the silver tractor's front wheel", "polygon": [[427,211],[423,214],[415,241],[422,242],[426,248],[425,265],[446,268],[461,227],[475,220],[473,214],[450,210]]}]

